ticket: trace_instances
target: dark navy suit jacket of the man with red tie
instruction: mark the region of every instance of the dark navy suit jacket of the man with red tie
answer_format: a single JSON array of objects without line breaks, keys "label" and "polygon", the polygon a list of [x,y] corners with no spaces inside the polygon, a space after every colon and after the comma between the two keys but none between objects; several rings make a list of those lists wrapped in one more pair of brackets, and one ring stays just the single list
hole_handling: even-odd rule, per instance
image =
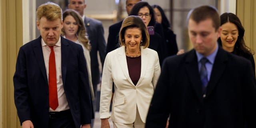
[{"label": "dark navy suit jacket of the man with red tie", "polygon": [[[61,36],[61,71],[64,91],[76,128],[91,122],[88,72],[82,46]],[[41,36],[20,47],[14,82],[14,102],[20,123],[48,128],[49,90]]]}]

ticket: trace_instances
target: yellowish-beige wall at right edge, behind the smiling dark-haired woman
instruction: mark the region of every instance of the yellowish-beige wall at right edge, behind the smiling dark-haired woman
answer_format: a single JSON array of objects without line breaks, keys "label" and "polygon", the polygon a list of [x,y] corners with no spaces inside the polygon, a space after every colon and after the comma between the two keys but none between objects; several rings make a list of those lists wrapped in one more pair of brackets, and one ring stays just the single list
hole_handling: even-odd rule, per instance
[{"label": "yellowish-beige wall at right edge, behind the smiling dark-haired woman", "polygon": [[[256,51],[256,1],[236,0],[236,15],[244,26],[244,39],[246,45]],[[254,61],[256,55],[254,54]]]}]

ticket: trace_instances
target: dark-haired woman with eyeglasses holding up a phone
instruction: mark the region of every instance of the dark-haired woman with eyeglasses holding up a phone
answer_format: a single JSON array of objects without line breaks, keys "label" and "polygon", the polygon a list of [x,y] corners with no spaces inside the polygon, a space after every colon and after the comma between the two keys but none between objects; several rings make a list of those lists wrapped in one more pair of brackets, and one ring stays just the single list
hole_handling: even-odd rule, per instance
[{"label": "dark-haired woman with eyeglasses holding up a phone", "polygon": [[[153,8],[148,4],[148,2],[138,2],[133,6],[130,16],[139,16],[147,27],[154,27],[154,34],[150,34],[150,44],[148,48],[151,48],[158,53],[161,65],[164,58],[167,56],[166,44],[164,43],[162,25],[156,22]],[[152,33],[150,29],[148,31],[149,33]]]}]

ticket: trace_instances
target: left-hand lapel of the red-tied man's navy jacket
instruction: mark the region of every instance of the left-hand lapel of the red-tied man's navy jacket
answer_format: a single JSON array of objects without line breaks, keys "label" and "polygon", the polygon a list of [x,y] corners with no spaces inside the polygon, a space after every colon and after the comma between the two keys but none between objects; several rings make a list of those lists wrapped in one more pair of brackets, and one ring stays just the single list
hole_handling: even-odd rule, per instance
[{"label": "left-hand lapel of the red-tied man's navy jacket", "polygon": [[45,64],[44,64],[44,55],[43,55],[42,44],[41,44],[41,36],[37,38],[35,42],[33,42],[33,50],[34,50],[38,65],[40,67],[40,70],[44,76],[44,80],[46,81],[46,83],[48,83]]}]

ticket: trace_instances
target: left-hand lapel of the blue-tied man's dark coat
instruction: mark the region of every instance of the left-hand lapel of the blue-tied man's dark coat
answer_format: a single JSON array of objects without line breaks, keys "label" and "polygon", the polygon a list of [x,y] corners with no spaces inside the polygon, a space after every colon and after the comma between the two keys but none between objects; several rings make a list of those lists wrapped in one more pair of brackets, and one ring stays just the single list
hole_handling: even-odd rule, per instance
[{"label": "left-hand lapel of the blue-tied man's dark coat", "polygon": [[198,71],[198,62],[195,50],[191,50],[185,60],[185,67],[188,78],[196,92],[198,100],[202,102],[202,88]]}]

